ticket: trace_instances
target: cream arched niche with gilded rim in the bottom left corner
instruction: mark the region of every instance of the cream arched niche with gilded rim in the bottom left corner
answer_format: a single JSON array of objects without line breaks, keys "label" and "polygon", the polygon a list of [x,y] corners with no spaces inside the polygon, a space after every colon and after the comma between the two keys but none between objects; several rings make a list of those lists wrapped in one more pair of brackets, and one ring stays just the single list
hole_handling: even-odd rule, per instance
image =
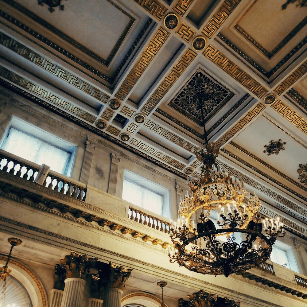
[{"label": "cream arched niche with gilded rim in the bottom left corner", "polygon": [[[7,257],[0,256],[0,267],[5,265],[6,260]],[[14,295],[10,291],[14,291],[14,287],[16,287],[15,290],[20,295],[24,291],[24,296],[29,297],[29,305],[31,307],[47,307],[47,299],[43,286],[32,271],[13,259],[10,259],[8,267],[12,272],[6,281],[6,296],[9,298],[9,295]]]}]

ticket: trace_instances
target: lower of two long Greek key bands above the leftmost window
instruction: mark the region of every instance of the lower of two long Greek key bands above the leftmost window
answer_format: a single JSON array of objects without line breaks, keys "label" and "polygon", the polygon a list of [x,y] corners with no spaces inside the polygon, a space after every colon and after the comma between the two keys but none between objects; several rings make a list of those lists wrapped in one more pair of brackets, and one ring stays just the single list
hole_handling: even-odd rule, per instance
[{"label": "lower of two long Greek key bands above the leftmost window", "polygon": [[39,85],[32,83],[31,81],[15,74],[14,72],[11,72],[10,70],[2,66],[0,66],[0,76],[5,78],[9,82],[16,84],[18,87],[22,87],[33,95],[44,99],[48,103],[56,105],[57,107],[60,107],[61,109],[64,109],[87,122],[93,123],[96,120],[95,116],[91,115],[90,113],[87,113],[80,107],[77,107],[76,105],[56,96],[45,88],[42,88]]}]

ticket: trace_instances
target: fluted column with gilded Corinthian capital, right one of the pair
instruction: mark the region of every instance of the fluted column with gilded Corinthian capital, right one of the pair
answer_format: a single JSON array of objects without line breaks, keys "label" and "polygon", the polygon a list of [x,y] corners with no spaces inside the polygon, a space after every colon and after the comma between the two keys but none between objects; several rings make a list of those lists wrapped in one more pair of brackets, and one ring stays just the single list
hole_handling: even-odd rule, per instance
[{"label": "fluted column with gilded Corinthian capital, right one of the pair", "polygon": [[131,269],[118,266],[110,262],[106,275],[106,286],[103,293],[103,307],[120,307],[122,290]]}]

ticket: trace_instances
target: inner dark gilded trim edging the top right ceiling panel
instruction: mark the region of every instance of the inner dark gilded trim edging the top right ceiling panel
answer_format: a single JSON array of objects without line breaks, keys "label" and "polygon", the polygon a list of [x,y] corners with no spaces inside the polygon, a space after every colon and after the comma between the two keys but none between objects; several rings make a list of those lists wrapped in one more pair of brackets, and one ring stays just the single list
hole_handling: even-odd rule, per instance
[{"label": "inner dark gilded trim edging the top right ceiling panel", "polygon": [[[244,16],[244,15],[243,15]],[[242,17],[243,17],[242,16]],[[241,17],[241,18],[242,18]],[[245,39],[253,44],[259,51],[261,51],[268,59],[271,59],[280,49],[282,49],[292,37],[294,37],[307,24],[307,17],[305,17],[283,40],[270,52],[260,45],[250,34],[244,31],[238,24],[234,29],[240,33]],[[303,44],[302,46],[304,46]]]}]

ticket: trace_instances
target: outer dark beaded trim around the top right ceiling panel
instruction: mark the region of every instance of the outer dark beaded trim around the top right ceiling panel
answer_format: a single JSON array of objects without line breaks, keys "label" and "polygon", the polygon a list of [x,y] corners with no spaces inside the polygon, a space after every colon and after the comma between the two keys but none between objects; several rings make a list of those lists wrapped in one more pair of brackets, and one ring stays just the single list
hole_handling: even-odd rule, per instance
[{"label": "outer dark beaded trim around the top right ceiling panel", "polygon": [[[241,59],[243,58],[245,61],[248,62],[248,64],[250,64],[252,67],[254,67],[258,72],[260,72],[263,76],[265,76],[266,78],[270,78],[271,76],[274,75],[275,72],[278,71],[279,68],[282,67],[282,65],[284,65],[288,60],[290,60],[290,58],[292,58],[298,51],[300,51],[302,49],[302,47],[307,43],[307,37],[305,37],[301,42],[299,42],[282,60],[280,60],[270,71],[266,71],[265,69],[263,69],[260,65],[258,65],[254,60],[252,60],[249,56],[247,56],[242,50],[240,50],[235,44],[233,44],[231,41],[229,41],[225,36],[223,36],[223,34],[218,33],[217,37],[219,37],[221,39],[221,41],[223,41],[227,46],[229,46],[233,51],[235,51],[235,53],[237,53],[240,57],[236,56],[235,53],[231,52],[231,54],[233,54],[237,59],[239,59],[244,65],[247,66],[247,64]],[[219,44],[220,41],[217,40],[216,38],[214,39],[215,41],[217,41]],[[222,45],[222,44],[221,44]],[[227,49],[229,50],[229,49]],[[304,52],[304,51],[303,51]],[[301,55],[301,54],[300,54]],[[294,60],[297,60],[297,58],[300,56],[298,55]],[[293,60],[293,61],[294,61]],[[293,61],[290,63],[292,64]],[[288,64],[288,66],[290,65]],[[284,71],[286,68],[284,68],[282,71]],[[252,69],[253,72],[257,73],[254,69]],[[278,75],[280,75],[281,72],[279,72]],[[261,75],[259,75],[257,73],[258,76],[260,76],[263,79],[263,77]],[[276,79],[277,76],[274,77],[273,80]],[[273,81],[271,80],[269,82],[269,84]],[[266,81],[266,80],[265,80]]]}]

